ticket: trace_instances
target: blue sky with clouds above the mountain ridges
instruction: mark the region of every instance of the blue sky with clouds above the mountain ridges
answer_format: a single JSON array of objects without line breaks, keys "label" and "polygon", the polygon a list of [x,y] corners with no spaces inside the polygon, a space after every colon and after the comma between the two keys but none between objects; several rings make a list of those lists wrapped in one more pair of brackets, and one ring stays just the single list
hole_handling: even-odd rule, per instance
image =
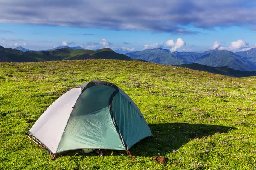
[{"label": "blue sky with clouds above the mountain ridges", "polygon": [[0,0],[0,11],[7,48],[256,48],[255,0]]}]

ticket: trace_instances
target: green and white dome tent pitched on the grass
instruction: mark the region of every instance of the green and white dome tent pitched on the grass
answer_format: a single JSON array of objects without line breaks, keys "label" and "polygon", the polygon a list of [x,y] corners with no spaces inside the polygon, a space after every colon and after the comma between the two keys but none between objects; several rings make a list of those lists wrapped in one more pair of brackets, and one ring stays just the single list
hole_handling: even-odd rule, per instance
[{"label": "green and white dome tent pitched on the grass", "polygon": [[29,130],[56,154],[76,149],[128,150],[152,136],[139,108],[110,82],[86,82],[59,97]]}]

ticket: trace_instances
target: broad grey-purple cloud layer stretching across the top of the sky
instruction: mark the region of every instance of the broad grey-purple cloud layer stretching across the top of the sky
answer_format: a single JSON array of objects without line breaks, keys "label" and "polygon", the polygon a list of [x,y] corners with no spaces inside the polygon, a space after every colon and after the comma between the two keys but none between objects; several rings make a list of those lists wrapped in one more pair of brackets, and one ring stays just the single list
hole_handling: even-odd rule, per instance
[{"label": "broad grey-purple cloud layer stretching across the top of the sky", "polygon": [[187,26],[203,29],[256,26],[255,3],[249,0],[242,2],[73,0],[70,3],[66,0],[44,0],[38,3],[37,0],[1,0],[0,23],[197,34]]}]

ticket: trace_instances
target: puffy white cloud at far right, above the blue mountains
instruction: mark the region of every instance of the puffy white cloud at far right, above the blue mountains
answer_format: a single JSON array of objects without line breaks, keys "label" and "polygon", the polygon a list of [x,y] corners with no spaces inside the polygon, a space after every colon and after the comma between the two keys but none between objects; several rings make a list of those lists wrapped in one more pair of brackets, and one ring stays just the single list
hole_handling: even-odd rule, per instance
[{"label": "puffy white cloud at far right, above the blue mountains", "polygon": [[229,51],[237,52],[237,51],[247,51],[247,50],[250,50],[251,48],[256,48],[256,45],[255,44],[249,45],[249,43],[239,39],[237,41],[231,42],[231,45],[229,47],[220,46],[218,50],[229,50]]}]

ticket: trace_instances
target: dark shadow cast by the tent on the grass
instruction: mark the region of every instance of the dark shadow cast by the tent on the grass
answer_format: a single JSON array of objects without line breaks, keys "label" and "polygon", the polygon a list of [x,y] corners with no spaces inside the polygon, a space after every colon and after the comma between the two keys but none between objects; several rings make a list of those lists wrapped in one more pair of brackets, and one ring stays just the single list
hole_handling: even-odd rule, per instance
[{"label": "dark shadow cast by the tent on the grass", "polygon": [[143,139],[135,144],[130,152],[134,156],[152,157],[158,153],[178,150],[183,144],[203,136],[226,133],[235,127],[189,123],[148,124],[154,137]]}]

